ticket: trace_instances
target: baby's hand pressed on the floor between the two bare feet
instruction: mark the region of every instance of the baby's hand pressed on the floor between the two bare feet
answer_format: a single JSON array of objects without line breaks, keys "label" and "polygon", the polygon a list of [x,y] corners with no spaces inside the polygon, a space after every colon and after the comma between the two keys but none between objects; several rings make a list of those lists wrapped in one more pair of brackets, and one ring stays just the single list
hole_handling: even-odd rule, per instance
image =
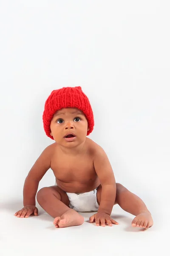
[{"label": "baby's hand pressed on the floor between the two bare feet", "polygon": [[97,212],[96,214],[91,216],[89,220],[91,223],[95,221],[96,226],[99,226],[101,222],[101,225],[103,227],[105,227],[105,223],[108,223],[109,226],[112,226],[112,224],[116,224],[116,225],[119,224],[117,221],[114,221],[109,214],[104,212]]}]

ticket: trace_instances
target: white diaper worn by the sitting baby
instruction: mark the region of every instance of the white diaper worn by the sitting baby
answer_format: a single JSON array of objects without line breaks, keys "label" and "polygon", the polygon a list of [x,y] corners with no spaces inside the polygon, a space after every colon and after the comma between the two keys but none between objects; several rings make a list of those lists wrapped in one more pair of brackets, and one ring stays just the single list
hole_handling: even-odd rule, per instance
[{"label": "white diaper worn by the sitting baby", "polygon": [[[57,183],[55,183],[57,185]],[[98,211],[99,204],[97,203],[97,189],[85,193],[68,193],[70,200],[69,207],[77,212],[91,212]]]}]

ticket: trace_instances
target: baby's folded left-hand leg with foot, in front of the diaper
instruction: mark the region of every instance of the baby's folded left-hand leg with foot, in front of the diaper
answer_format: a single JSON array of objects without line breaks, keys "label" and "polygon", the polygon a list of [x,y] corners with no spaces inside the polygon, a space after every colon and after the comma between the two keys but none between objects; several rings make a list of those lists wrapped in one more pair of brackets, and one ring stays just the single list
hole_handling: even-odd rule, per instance
[{"label": "baby's folded left-hand leg with foot, in front of the diaper", "polygon": [[69,208],[68,196],[58,186],[40,189],[37,193],[37,201],[49,215],[55,218],[55,227],[77,226],[84,222],[82,215]]}]

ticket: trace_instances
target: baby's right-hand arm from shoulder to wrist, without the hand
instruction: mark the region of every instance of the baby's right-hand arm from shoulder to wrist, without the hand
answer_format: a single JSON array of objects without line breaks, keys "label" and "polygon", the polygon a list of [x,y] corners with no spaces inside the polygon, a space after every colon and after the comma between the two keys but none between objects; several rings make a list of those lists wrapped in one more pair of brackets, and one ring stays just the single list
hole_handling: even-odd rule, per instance
[{"label": "baby's right-hand arm from shoulder to wrist, without the hand", "polygon": [[105,151],[98,145],[94,156],[94,168],[102,185],[98,212],[111,215],[116,199],[116,181]]}]

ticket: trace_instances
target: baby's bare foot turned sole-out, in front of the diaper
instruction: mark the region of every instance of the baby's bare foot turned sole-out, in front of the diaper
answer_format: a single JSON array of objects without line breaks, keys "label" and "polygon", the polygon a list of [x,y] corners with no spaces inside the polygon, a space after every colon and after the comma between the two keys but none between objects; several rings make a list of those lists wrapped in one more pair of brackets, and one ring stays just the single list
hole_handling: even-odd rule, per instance
[{"label": "baby's bare foot turned sole-out, in front of the diaper", "polygon": [[56,217],[53,224],[55,227],[70,227],[82,225],[83,222],[84,218],[82,215],[73,209],[69,209],[67,212],[61,215],[61,217]]}]

